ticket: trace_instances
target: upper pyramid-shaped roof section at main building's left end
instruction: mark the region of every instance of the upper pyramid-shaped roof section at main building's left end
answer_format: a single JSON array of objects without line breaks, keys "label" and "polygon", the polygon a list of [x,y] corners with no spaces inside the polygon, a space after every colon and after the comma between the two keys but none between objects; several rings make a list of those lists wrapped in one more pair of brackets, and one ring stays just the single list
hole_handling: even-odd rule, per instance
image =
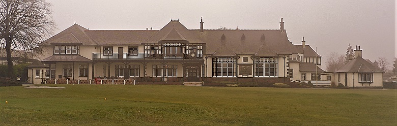
[{"label": "upper pyramid-shaped roof section at main building's left end", "polygon": [[78,24],[74,24],[39,45],[49,45],[50,43],[81,43],[83,45],[97,45],[97,43],[95,43],[95,41],[86,33],[86,30],[88,29]]}]

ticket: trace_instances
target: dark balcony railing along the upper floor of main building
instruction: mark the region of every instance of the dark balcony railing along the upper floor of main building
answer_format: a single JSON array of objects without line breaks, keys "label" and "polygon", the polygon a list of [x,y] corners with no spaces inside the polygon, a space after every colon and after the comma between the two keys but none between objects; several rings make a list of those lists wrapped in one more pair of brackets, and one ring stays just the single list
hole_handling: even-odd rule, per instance
[{"label": "dark balcony railing along the upper floor of main building", "polygon": [[147,53],[93,53],[93,60],[96,59],[203,59],[203,54],[191,57],[189,53],[181,54],[147,54]]}]

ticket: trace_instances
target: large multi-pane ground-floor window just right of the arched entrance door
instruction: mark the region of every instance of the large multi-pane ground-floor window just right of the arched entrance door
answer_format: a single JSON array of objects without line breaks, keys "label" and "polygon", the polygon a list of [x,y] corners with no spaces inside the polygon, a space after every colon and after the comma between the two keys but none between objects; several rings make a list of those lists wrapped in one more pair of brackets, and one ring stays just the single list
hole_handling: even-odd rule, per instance
[{"label": "large multi-pane ground-floor window just right of the arched entrance door", "polygon": [[236,58],[215,57],[213,62],[213,77],[236,77]]}]

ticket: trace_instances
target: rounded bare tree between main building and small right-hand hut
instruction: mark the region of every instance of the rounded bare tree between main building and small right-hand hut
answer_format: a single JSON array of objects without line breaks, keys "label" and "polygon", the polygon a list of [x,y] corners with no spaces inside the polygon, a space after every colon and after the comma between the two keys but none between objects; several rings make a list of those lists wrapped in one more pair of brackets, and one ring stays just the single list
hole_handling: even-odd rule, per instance
[{"label": "rounded bare tree between main building and small right-hand hut", "polygon": [[338,54],[336,52],[331,52],[327,58],[327,72],[335,72],[339,68],[345,65],[343,54]]}]

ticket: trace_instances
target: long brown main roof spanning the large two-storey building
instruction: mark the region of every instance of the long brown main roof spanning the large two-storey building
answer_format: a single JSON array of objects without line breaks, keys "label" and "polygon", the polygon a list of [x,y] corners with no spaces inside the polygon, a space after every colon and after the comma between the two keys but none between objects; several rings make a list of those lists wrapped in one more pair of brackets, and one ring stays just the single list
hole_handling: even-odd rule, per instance
[{"label": "long brown main roof spanning the large two-storey building", "polygon": [[[221,40],[222,35],[225,36],[225,40]],[[214,54],[218,49],[221,49],[222,45],[225,45],[235,54],[267,55],[272,51],[277,55],[304,52],[306,56],[319,56],[308,45],[306,49],[302,49],[301,46],[292,44],[288,40],[287,33],[281,33],[279,29],[204,29],[201,32],[200,29],[187,29],[178,20],[168,22],[160,30],[88,30],[74,24],[42,42],[41,45],[51,43],[140,45],[141,43],[157,43],[159,40],[186,40],[189,43],[206,43],[207,54]],[[266,45],[271,51],[257,52],[261,51],[263,45]]]}]

